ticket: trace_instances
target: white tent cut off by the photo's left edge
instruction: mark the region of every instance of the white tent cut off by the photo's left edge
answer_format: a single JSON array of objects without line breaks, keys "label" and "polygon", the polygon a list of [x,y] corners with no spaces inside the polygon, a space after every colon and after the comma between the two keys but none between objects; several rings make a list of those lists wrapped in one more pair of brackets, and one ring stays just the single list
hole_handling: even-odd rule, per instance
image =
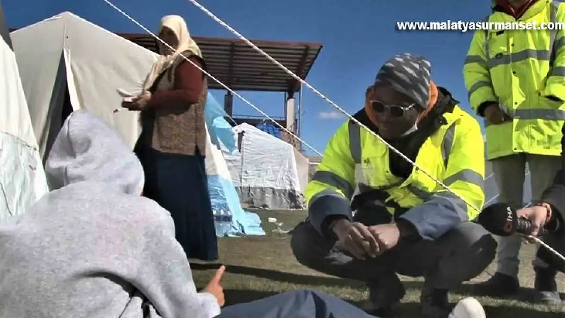
[{"label": "white tent cut off by the photo's left edge", "polygon": [[0,4],[0,223],[47,192],[18,65]]}]

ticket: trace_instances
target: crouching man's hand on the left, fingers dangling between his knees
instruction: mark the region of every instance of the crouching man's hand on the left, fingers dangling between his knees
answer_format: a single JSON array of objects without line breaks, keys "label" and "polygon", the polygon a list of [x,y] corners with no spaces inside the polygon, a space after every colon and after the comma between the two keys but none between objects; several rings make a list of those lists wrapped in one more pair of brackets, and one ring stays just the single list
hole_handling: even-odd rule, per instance
[{"label": "crouching man's hand on the left, fingers dangling between his knees", "polygon": [[379,245],[369,228],[363,223],[351,223],[349,220],[338,220],[332,230],[336,233],[340,243],[355,258],[365,260],[366,256],[379,255]]}]

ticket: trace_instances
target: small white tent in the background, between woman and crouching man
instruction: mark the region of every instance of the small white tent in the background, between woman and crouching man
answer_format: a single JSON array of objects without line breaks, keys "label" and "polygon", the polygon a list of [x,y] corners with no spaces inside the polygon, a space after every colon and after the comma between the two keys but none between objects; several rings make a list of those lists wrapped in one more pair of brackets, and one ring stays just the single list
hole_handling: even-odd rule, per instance
[{"label": "small white tent in the background, between woman and crouching man", "polygon": [[224,151],[224,158],[244,206],[304,208],[302,191],[308,181],[308,159],[289,143],[252,125],[237,125],[233,130],[238,150]]}]

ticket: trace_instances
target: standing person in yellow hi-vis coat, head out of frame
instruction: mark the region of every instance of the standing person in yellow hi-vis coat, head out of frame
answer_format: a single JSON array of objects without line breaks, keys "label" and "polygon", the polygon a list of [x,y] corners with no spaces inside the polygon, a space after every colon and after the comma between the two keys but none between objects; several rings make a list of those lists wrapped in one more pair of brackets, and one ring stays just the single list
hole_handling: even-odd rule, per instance
[{"label": "standing person in yellow hi-vis coat, head out of frame", "polygon": [[[565,22],[565,4],[549,0],[497,0],[490,23]],[[524,26],[526,26],[524,24]],[[558,25],[549,25],[558,27]],[[476,31],[463,75],[471,107],[485,118],[487,159],[493,167],[499,196],[520,208],[528,164],[532,204],[549,186],[561,162],[561,127],[565,119],[565,31],[485,29]],[[530,186],[530,185],[527,185]],[[488,203],[493,203],[488,202]],[[507,296],[518,292],[520,238],[499,238],[497,273],[476,286],[481,294]],[[536,298],[560,302],[557,270],[540,259],[533,262]]]}]

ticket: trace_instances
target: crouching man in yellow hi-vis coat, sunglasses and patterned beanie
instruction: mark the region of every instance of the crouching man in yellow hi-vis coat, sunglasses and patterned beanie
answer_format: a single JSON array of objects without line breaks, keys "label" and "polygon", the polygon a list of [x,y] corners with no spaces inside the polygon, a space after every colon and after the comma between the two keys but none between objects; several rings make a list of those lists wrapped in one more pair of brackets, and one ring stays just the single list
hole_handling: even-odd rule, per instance
[{"label": "crouching man in yellow hi-vis coat, sunglasses and patterned beanie", "polygon": [[[305,190],[308,219],[294,229],[295,258],[316,271],[365,282],[371,305],[365,309],[373,315],[389,313],[405,295],[400,273],[425,278],[423,317],[446,318],[448,291],[494,259],[496,241],[471,222],[484,203],[483,136],[457,104],[431,81],[428,60],[394,56],[354,118],[422,170],[348,120]],[[356,186],[359,194],[350,202]]]}]

